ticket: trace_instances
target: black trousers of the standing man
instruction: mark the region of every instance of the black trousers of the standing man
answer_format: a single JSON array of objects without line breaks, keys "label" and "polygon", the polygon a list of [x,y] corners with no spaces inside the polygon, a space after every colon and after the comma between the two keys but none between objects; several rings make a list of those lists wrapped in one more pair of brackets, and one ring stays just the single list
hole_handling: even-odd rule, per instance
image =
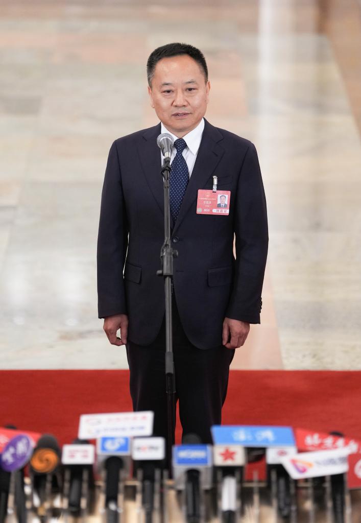
[{"label": "black trousers of the standing man", "polygon": [[[179,401],[183,435],[197,434],[203,443],[211,443],[210,427],[221,423],[234,349],[221,345],[204,350],[192,345],[179,319],[174,293],[172,302],[176,400]],[[165,316],[151,345],[136,345],[129,341],[126,347],[133,410],[153,411],[153,435],[166,438]]]}]

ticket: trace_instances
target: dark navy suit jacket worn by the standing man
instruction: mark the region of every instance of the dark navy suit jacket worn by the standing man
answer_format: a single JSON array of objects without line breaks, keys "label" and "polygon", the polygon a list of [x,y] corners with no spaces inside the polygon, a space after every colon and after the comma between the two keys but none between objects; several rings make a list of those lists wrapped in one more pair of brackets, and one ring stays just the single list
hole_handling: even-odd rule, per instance
[{"label": "dark navy suit jacket worn by the standing man", "polygon": [[[128,314],[128,339],[148,345],[164,316],[160,251],[164,191],[160,123],[115,140],[105,173],[98,234],[98,315]],[[229,214],[197,214],[198,189],[230,190]],[[255,146],[207,120],[171,234],[174,292],[184,331],[201,349],[222,344],[225,316],[260,323],[268,248],[267,210]],[[235,235],[236,257],[233,255]]]}]

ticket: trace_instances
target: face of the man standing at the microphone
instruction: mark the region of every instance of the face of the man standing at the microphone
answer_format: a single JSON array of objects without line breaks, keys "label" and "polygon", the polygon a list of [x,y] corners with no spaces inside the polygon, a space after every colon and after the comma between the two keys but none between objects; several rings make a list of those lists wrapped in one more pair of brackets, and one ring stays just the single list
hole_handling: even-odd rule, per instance
[{"label": "face of the man standing at the microphone", "polygon": [[148,92],[157,117],[177,138],[183,138],[204,117],[209,88],[200,65],[182,54],[157,62]]}]

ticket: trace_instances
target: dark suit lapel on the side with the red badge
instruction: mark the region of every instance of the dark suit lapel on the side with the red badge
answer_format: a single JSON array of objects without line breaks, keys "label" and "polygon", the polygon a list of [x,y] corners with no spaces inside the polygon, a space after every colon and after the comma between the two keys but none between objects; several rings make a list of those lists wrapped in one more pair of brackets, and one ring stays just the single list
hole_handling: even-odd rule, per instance
[{"label": "dark suit lapel on the side with the red badge", "polygon": [[[192,174],[189,178],[187,189],[182,201],[181,208],[174,226],[173,233],[176,232],[182,220],[185,218],[189,207],[197,199],[198,189],[202,189],[208,178],[216,169],[221,157],[224,154],[224,149],[218,142],[223,139],[222,134],[216,127],[213,127],[205,119],[205,128],[203,130],[202,139],[197,153],[196,162],[193,167]],[[164,209],[164,206],[163,206]]]}]

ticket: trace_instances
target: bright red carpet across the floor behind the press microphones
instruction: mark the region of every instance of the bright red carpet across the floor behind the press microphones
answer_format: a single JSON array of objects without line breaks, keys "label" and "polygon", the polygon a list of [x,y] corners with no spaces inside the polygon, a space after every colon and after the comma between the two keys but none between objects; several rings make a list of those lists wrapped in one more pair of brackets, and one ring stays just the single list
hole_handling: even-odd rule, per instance
[{"label": "bright red carpet across the floor behind the press microphones", "polygon": [[[127,370],[0,371],[0,426],[77,436],[80,414],[131,410]],[[339,430],[361,439],[361,371],[231,371],[223,424]],[[177,424],[177,439],[181,434]]]}]

